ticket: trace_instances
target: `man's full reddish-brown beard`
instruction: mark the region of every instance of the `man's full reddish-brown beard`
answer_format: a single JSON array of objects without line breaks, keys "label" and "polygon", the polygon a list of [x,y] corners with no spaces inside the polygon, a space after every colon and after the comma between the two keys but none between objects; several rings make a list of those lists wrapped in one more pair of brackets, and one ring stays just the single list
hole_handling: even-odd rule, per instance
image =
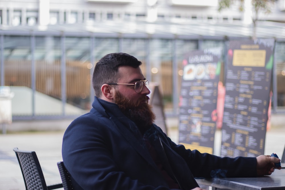
[{"label": "man's full reddish-brown beard", "polygon": [[149,97],[143,96],[137,102],[131,102],[119,91],[115,94],[115,103],[125,116],[131,119],[138,127],[151,125],[155,120],[155,115],[148,104]]}]

